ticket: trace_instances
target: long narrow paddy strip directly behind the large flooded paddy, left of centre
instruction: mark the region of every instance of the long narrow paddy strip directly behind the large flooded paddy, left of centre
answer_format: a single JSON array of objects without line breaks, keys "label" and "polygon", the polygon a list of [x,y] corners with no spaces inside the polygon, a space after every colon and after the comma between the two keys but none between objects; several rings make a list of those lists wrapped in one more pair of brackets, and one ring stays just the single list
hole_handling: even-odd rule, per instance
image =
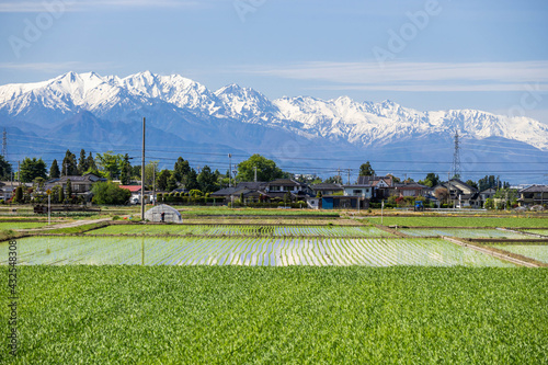
[{"label": "long narrow paddy strip directly behind the large flooded paddy, left of centre", "polygon": [[392,237],[376,227],[340,226],[252,226],[252,225],[112,225],[89,235],[201,235],[201,236],[324,236]]}]

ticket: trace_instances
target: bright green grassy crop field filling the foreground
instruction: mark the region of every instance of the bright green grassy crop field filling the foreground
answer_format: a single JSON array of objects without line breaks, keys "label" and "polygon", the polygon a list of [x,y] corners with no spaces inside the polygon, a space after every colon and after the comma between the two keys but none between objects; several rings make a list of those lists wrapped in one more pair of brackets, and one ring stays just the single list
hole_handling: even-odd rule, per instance
[{"label": "bright green grassy crop field filling the foreground", "polygon": [[547,363],[543,269],[19,270],[3,363]]}]

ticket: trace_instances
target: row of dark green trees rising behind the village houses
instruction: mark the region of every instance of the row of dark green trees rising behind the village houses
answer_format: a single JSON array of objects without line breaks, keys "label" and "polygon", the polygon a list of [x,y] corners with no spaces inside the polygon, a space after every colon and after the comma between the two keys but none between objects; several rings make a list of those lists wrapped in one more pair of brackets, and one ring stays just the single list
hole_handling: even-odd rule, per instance
[{"label": "row of dark green trees rising behind the village houses", "polygon": [[[87,153],[84,149],[80,150],[80,156],[77,159],[76,155],[67,150],[61,166],[59,167],[57,160],[52,162],[49,173],[47,173],[46,163],[42,159],[25,158],[21,163],[21,181],[33,182],[36,178],[54,179],[61,175],[83,175],[85,173],[94,173],[99,176],[109,180],[119,179],[122,184],[129,184],[133,180],[140,180],[140,166],[133,167],[130,157],[125,153],[113,153],[106,151],[104,153],[96,153],[93,158],[92,153]],[[272,181],[281,178],[293,178],[288,172],[282,171],[273,160],[266,159],[261,155],[253,155],[249,159],[238,163],[238,173],[232,178],[232,182],[253,181],[256,173],[258,181]],[[3,180],[9,180],[12,169],[3,157],[0,156],[0,176]],[[172,191],[176,187],[184,186],[187,190],[197,189],[204,193],[214,192],[221,187],[229,185],[230,173],[227,171],[225,174],[218,170],[212,171],[208,166],[205,166],[199,173],[193,169],[189,161],[179,157],[172,170],[164,169],[158,170],[158,161],[149,162],[145,168],[145,184],[151,187],[155,183],[158,190]],[[361,176],[375,175],[375,170],[369,161],[359,167]],[[396,182],[400,179],[393,176]],[[302,179],[301,179],[302,180]],[[407,179],[407,182],[413,181]],[[327,182],[327,183],[342,183],[340,175],[331,176],[322,181],[322,179],[315,178],[311,183]],[[433,187],[442,182],[438,174],[429,173],[423,180],[419,180],[420,184]],[[467,184],[483,191],[486,189],[504,189],[510,187],[510,183],[501,181],[500,178],[494,175],[486,175],[478,182],[468,180]]]}]

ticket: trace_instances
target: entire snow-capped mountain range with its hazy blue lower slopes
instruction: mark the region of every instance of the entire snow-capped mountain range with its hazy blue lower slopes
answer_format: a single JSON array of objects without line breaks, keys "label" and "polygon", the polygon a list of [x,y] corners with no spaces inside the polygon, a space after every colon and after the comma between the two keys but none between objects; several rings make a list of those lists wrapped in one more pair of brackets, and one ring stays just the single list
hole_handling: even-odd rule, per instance
[{"label": "entire snow-capped mountain range with its hazy blue lower slopes", "polygon": [[[0,87],[0,126],[14,128],[15,135],[56,138],[62,147],[79,140],[88,148],[119,150],[137,138],[142,116],[151,121],[152,144],[202,144],[265,155],[276,149],[286,158],[309,155],[311,148],[324,156],[357,156],[397,145],[414,146],[427,156],[425,144],[448,147],[450,152],[447,141],[455,132],[486,153],[488,141],[494,146],[501,140],[541,157],[548,151],[548,125],[528,117],[475,110],[421,112],[391,101],[356,102],[347,96],[269,100],[238,84],[210,91],[180,75],[145,71],[119,78],[68,72],[43,82]],[[290,147],[288,141],[298,147],[293,155],[283,151]],[[32,147],[41,150],[39,145]],[[409,159],[409,152],[404,155]]]}]

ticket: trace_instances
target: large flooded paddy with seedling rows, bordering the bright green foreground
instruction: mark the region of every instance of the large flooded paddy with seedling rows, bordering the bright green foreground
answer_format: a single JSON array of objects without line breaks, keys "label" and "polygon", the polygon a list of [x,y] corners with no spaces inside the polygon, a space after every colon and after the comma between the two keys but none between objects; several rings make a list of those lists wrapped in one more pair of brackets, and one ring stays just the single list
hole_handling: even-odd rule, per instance
[{"label": "large flooded paddy with seedling rows, bordering the bright green foreground", "polygon": [[[18,240],[26,265],[514,266],[441,239],[41,237]],[[8,258],[8,243],[0,243]],[[0,261],[7,264],[7,259]]]}]

